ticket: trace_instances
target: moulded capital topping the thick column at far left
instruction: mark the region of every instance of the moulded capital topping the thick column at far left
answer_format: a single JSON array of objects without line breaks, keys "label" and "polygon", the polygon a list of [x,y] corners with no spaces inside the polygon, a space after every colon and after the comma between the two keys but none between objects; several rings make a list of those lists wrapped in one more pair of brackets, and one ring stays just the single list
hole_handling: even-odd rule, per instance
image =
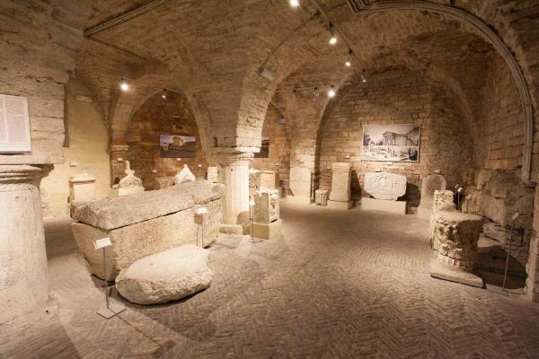
[{"label": "moulded capital topping the thick column at far left", "polygon": [[0,192],[39,187],[45,175],[40,167],[28,164],[0,165]]}]

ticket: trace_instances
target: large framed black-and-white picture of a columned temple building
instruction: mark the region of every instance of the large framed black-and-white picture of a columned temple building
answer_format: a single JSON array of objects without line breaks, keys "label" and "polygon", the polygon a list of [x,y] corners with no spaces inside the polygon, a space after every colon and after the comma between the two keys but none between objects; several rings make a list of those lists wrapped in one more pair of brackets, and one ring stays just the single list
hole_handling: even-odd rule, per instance
[{"label": "large framed black-and-white picture of a columned temple building", "polygon": [[362,159],[419,162],[420,125],[364,125]]}]

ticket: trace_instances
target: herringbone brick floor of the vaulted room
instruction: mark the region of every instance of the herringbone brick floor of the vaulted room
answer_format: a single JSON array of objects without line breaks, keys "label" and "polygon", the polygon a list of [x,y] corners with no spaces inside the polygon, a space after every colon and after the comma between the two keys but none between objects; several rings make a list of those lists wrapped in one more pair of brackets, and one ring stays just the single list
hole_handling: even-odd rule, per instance
[{"label": "herringbone brick floor of the vaulted room", "polygon": [[124,302],[109,321],[95,314],[101,282],[68,223],[47,223],[57,311],[0,327],[0,357],[539,358],[539,304],[431,278],[427,221],[286,203],[281,212],[282,239],[223,236],[211,247],[208,290]]}]

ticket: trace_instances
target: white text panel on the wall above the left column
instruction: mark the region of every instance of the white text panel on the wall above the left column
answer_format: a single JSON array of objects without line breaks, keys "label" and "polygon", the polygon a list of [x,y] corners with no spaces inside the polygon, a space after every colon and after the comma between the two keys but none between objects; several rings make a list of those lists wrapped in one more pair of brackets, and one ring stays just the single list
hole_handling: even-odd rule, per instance
[{"label": "white text panel on the wall above the left column", "polygon": [[0,94],[0,153],[31,152],[28,99]]}]

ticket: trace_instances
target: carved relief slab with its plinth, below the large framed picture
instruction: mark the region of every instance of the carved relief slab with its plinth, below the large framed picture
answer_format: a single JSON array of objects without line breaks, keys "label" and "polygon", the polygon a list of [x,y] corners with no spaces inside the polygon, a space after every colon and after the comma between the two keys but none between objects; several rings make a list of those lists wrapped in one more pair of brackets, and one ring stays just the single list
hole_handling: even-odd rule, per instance
[{"label": "carved relief slab with its plinth, below the large framed picture", "polygon": [[365,190],[374,198],[361,198],[361,208],[406,215],[406,201],[397,201],[406,193],[406,176],[391,172],[367,172]]}]

